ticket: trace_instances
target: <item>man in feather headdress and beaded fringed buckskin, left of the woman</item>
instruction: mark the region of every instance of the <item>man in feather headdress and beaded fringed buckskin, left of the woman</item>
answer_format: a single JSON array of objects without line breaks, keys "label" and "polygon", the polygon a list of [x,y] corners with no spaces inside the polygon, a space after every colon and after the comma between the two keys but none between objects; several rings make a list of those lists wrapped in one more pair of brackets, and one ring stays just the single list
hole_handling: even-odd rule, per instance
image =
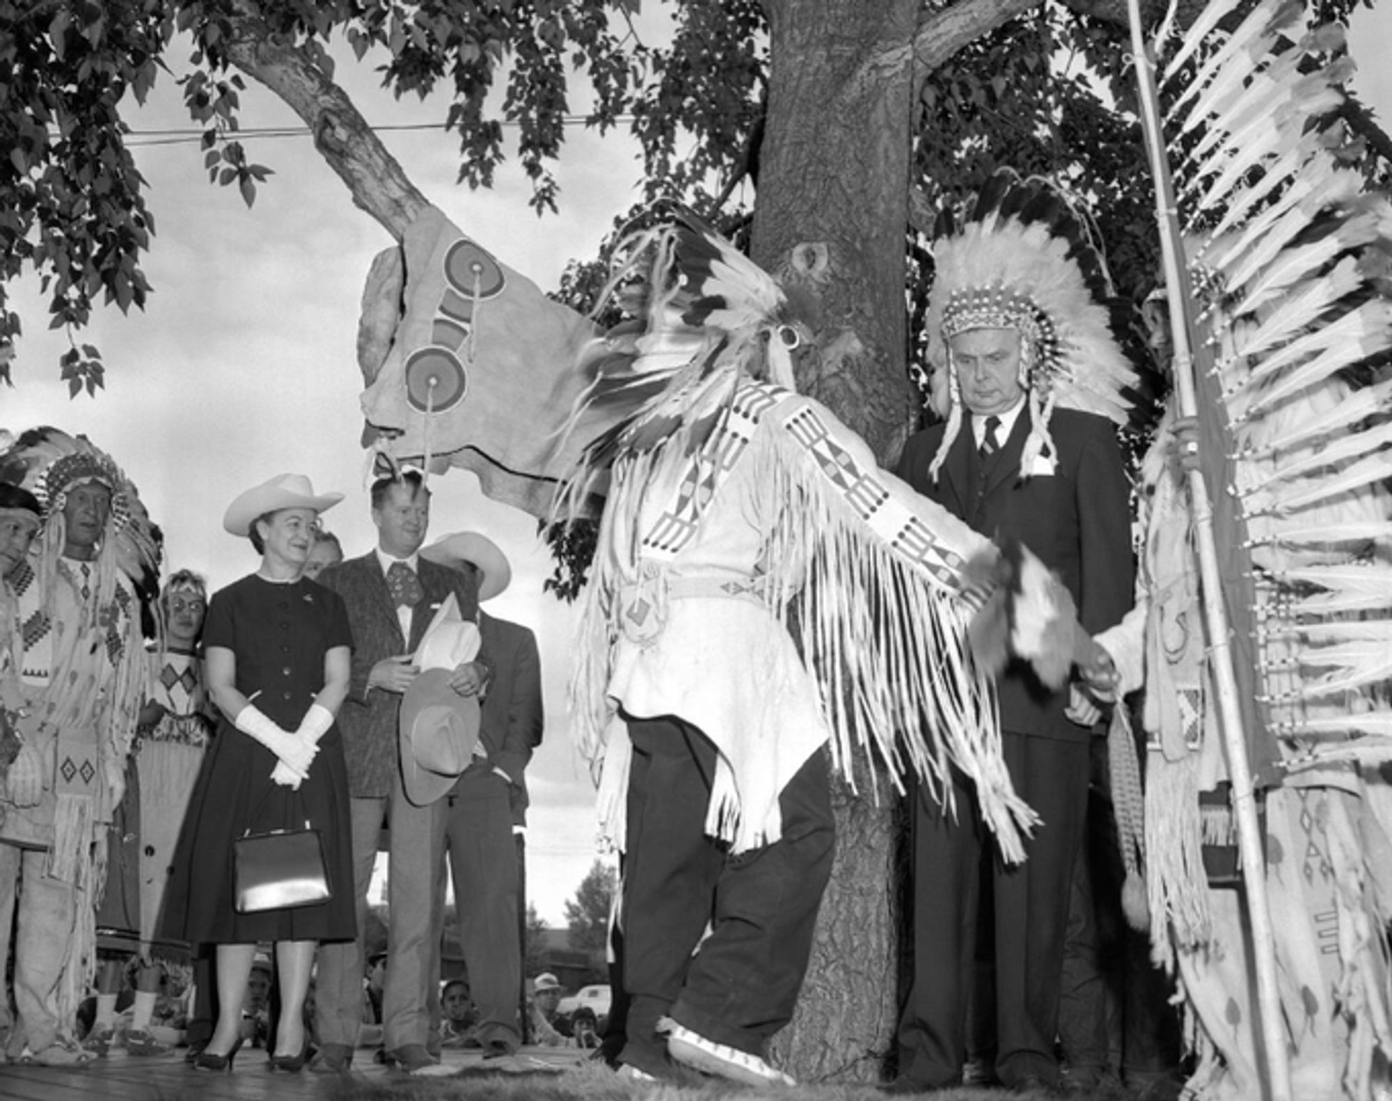
[{"label": "man in feather headdress and beaded fringed buckskin, left of the woman", "polygon": [[153,575],[157,548],[134,487],[84,437],[24,433],[0,451],[0,480],[29,490],[43,519],[38,554],[8,576],[19,631],[10,717],[19,746],[0,792],[0,846],[21,849],[24,891],[18,1027],[7,1054],[78,1066],[92,1058],[72,1024],[96,966],[107,824],[125,791],[148,688],[132,582]]}]

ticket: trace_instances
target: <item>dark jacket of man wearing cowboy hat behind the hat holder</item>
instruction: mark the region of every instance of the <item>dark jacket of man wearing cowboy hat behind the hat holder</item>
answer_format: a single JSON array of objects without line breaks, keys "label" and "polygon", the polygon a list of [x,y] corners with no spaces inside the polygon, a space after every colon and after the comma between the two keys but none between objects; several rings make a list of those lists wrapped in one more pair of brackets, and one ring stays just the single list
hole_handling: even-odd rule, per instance
[{"label": "dark jacket of man wearing cowboy hat behind the hat holder", "polygon": [[[541,706],[541,658],[536,635],[521,624],[479,611],[479,633],[493,663],[493,679],[483,697],[479,740],[489,753],[465,771],[501,768],[512,782],[512,820],[526,820],[526,766],[541,745],[546,722]],[[461,777],[461,782],[462,782]]]}]

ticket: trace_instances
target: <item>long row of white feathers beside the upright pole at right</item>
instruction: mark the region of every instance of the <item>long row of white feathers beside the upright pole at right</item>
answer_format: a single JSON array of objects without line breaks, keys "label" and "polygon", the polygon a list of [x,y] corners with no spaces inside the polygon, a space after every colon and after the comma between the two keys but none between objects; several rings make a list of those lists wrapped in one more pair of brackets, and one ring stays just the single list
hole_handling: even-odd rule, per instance
[{"label": "long row of white feathers beside the upright pole at right", "polygon": [[[1392,710],[1392,380],[1354,369],[1392,348],[1371,253],[1392,249],[1382,196],[1350,170],[1338,111],[1352,61],[1339,26],[1295,0],[1210,3],[1165,61],[1166,129],[1189,263],[1211,291],[1200,369],[1219,383],[1228,486],[1254,572],[1257,682],[1268,738],[1377,736]],[[1187,214],[1187,217],[1185,217]],[[1211,227],[1207,228],[1205,227]],[[1366,372],[1364,372],[1366,376]],[[1363,696],[1357,707],[1292,702]],[[1360,754],[1361,756],[1361,754]],[[1303,757],[1306,759],[1306,757]]]}]

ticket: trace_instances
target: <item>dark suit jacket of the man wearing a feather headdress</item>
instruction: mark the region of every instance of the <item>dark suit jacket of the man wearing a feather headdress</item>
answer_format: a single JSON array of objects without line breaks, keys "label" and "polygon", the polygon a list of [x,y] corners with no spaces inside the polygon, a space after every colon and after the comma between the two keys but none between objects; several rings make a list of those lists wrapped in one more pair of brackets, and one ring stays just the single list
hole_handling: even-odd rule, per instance
[{"label": "dark suit jacket of the man wearing a feather headdress", "polygon": [[[1093,635],[1130,610],[1134,560],[1130,486],[1111,423],[1091,413],[1055,409],[1050,436],[1058,451],[1052,475],[1020,480],[1020,452],[1030,431],[1029,409],[1016,418],[1001,450],[983,459],[969,422],[952,441],[935,482],[928,464],[945,426],[909,438],[899,477],[991,539],[1011,537],[1054,569],[1077,603],[1077,618]],[[1084,739],[1090,732],[1065,714],[1068,690],[1050,692],[1023,661],[997,682],[1001,728],[1016,734]]]}]

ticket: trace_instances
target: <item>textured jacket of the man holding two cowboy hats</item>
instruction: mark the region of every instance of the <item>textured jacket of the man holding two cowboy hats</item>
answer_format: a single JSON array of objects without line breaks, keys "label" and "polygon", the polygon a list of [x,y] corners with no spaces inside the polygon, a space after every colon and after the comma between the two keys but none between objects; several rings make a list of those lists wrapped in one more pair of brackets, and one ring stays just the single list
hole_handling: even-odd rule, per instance
[{"label": "textured jacket of the man holding two cowboy hats", "polygon": [[[397,718],[401,696],[394,692],[367,690],[372,667],[384,657],[411,654],[430,626],[440,604],[454,593],[465,619],[477,622],[479,593],[459,571],[418,560],[420,587],[426,599],[412,608],[411,637],[401,636],[397,605],[387,589],[376,550],[361,558],[349,558],[329,567],[319,575],[319,583],[342,597],[352,626],[352,674],[348,699],[338,710],[338,727],[344,735],[344,757],[348,763],[348,789],[354,798],[384,798],[391,795],[391,781],[398,768]],[[479,657],[487,653],[483,640]]]}]

